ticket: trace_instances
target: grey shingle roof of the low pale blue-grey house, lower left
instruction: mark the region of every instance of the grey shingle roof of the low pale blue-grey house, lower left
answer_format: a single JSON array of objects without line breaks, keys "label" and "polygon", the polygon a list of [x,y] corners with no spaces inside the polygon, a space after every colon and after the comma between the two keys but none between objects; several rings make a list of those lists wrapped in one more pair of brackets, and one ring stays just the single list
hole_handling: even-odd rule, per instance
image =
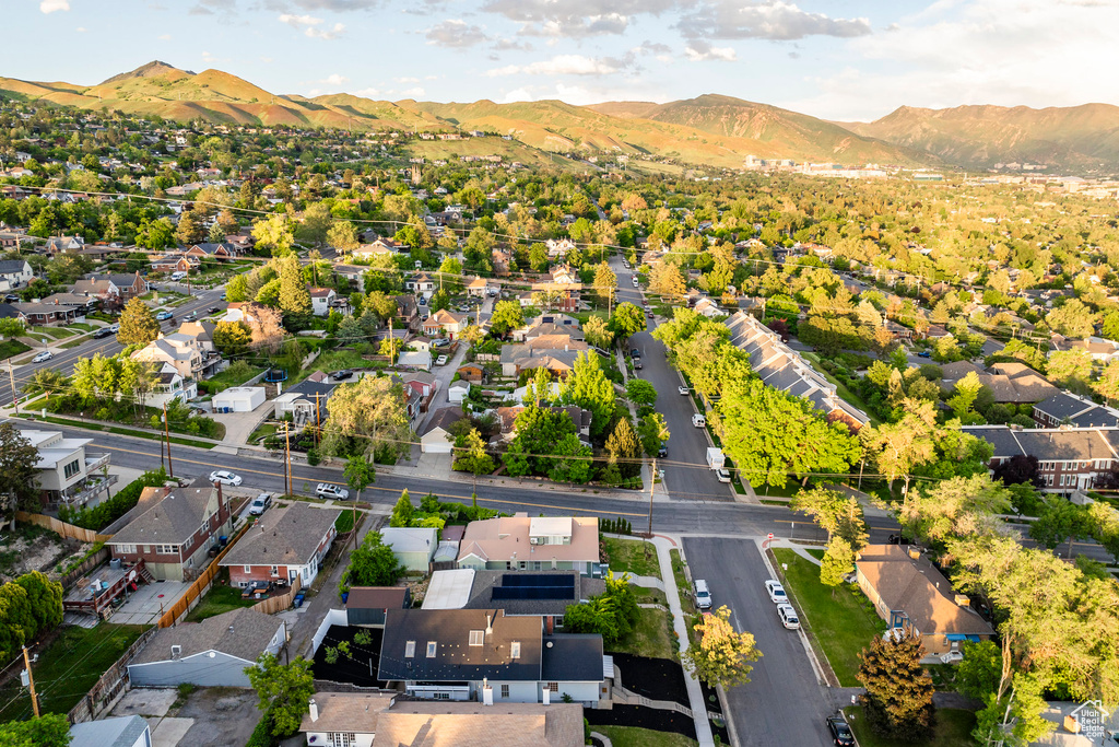
[{"label": "grey shingle roof of the low pale blue-grey house, lower left", "polygon": [[248,607],[235,609],[201,623],[179,623],[161,628],[130,664],[150,664],[171,660],[171,646],[181,646],[179,657],[206,651],[254,662],[264,653],[283,623]]}]

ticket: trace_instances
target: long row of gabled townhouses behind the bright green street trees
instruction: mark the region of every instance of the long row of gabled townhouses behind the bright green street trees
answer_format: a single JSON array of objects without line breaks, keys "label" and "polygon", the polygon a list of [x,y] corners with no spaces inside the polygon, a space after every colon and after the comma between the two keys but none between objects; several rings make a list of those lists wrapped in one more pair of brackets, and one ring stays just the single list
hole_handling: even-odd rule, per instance
[{"label": "long row of gabled townhouses behind the bright green street trees", "polygon": [[731,342],[750,356],[751,367],[767,386],[807,399],[829,421],[843,421],[852,430],[869,422],[865,412],[836,393],[835,384],[755,317],[735,311],[723,324],[731,330]]}]

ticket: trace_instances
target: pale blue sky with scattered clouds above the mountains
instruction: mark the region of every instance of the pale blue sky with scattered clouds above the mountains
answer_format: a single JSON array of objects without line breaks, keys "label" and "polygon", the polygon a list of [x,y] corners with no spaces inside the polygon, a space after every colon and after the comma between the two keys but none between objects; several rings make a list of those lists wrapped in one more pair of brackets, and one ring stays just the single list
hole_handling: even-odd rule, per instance
[{"label": "pale blue sky with scattered clouds above the mountains", "polygon": [[721,93],[835,120],[1119,103],[1119,0],[6,0],[3,16],[0,74],[35,81],[161,59],[394,101]]}]

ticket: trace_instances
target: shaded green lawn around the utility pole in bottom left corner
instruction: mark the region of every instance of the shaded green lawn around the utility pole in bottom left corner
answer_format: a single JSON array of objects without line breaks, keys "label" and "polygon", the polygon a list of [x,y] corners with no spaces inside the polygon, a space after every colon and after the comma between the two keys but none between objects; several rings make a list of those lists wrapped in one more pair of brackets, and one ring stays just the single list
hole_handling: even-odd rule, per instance
[{"label": "shaded green lawn around the utility pole in bottom left corner", "polygon": [[[31,665],[39,707],[46,713],[66,713],[78,703],[113,662],[140,637],[140,625],[110,625],[95,628],[65,628],[46,648],[36,651]],[[31,718],[31,699],[19,687],[19,678],[0,689],[0,719]]]}]

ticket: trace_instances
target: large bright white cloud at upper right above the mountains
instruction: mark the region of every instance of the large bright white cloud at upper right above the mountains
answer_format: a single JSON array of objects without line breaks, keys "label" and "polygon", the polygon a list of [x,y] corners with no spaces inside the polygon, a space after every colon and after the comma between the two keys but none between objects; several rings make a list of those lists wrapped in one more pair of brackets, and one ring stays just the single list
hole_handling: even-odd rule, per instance
[{"label": "large bright white cloud at upper right above the mountains", "polygon": [[[781,102],[829,119],[874,119],[901,105],[1072,106],[1119,100],[1119,4],[1082,0],[938,2],[852,39],[819,93]],[[1044,43],[1040,43],[1044,39]],[[777,103],[777,102],[775,102]]]}]

